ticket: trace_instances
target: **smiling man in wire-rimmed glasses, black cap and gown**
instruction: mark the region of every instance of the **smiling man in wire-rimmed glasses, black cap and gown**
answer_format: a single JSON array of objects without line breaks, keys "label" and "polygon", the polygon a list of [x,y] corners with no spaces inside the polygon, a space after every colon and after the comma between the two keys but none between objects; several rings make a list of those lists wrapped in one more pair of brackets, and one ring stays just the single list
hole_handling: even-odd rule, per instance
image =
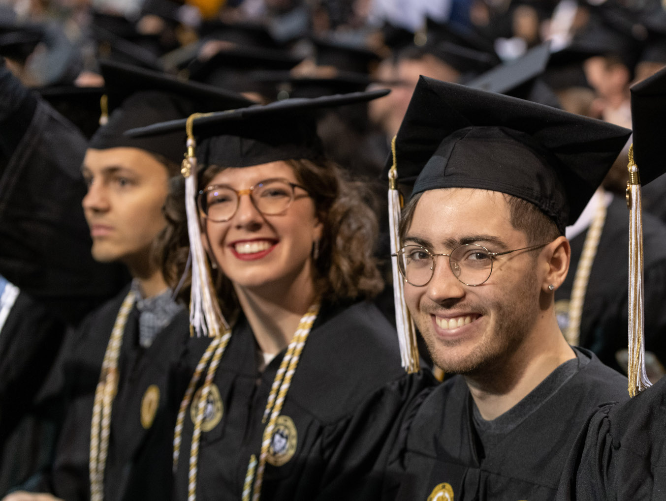
[{"label": "smiling man in wire-rimmed glasses, black cap and gown", "polygon": [[[386,498],[549,500],[597,405],[626,379],[570,347],[553,293],[574,221],[629,130],[422,77],[396,138],[413,182],[398,251],[434,363],[392,454]],[[416,180],[414,182],[414,180]]]}]

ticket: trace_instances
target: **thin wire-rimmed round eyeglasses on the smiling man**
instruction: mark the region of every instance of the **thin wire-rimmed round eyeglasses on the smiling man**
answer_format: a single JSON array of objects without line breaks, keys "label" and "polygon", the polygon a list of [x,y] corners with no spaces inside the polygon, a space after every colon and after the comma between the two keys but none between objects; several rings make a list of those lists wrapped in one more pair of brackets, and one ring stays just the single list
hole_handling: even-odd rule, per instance
[{"label": "thin wire-rimmed round eyeglasses on the smiling man", "polygon": [[430,282],[435,273],[435,257],[438,255],[449,257],[449,266],[458,281],[476,287],[490,278],[494,257],[521,250],[536,250],[549,243],[505,252],[491,252],[478,244],[464,244],[450,254],[434,254],[421,246],[405,246],[392,255],[398,257],[398,269],[404,279],[415,287],[423,287]]}]

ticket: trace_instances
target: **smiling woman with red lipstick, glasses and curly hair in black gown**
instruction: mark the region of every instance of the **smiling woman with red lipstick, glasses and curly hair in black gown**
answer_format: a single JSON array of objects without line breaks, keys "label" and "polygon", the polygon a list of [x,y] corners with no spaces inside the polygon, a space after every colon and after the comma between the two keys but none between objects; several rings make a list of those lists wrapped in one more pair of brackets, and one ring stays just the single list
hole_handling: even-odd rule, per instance
[{"label": "smiling woman with red lipstick, glasses and curly hair in black gown", "polygon": [[[432,381],[404,375],[395,331],[367,301],[383,285],[368,192],[324,158],[300,104],[278,104],[280,127],[225,114],[199,132],[201,239],[231,329],[186,361],[200,370],[176,424],[178,499],[379,496],[382,444]],[[172,283],[190,254],[179,185],[165,210]]]}]

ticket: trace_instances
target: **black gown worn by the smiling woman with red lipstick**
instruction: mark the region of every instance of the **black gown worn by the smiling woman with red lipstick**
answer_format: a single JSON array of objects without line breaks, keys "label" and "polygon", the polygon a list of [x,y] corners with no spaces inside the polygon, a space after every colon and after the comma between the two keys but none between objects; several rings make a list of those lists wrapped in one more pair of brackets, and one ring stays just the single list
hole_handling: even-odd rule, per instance
[{"label": "black gown worn by the smiling woman with red lipstick", "polygon": [[[214,379],[222,413],[210,406],[208,422],[219,422],[201,436],[198,501],[240,500],[250,455],[259,456],[262,415],[283,357],[284,351],[258,373],[250,327],[243,320],[234,328]],[[262,501],[376,498],[393,424],[406,401],[431,384],[430,373],[404,374],[395,330],[374,305],[322,306],[280,413],[280,436],[273,439],[286,452],[284,464],[266,464]],[[188,412],[178,500],[186,500],[192,428]]]}]

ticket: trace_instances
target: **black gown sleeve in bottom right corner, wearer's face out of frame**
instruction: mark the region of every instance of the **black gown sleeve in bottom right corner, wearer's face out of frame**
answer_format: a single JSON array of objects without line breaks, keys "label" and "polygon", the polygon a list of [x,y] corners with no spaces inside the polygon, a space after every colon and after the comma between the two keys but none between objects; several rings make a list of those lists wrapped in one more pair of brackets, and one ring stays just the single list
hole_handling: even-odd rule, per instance
[{"label": "black gown sleeve in bottom right corner, wearer's face out of frame", "polygon": [[557,501],[666,499],[666,378],[601,407],[571,450]]}]

